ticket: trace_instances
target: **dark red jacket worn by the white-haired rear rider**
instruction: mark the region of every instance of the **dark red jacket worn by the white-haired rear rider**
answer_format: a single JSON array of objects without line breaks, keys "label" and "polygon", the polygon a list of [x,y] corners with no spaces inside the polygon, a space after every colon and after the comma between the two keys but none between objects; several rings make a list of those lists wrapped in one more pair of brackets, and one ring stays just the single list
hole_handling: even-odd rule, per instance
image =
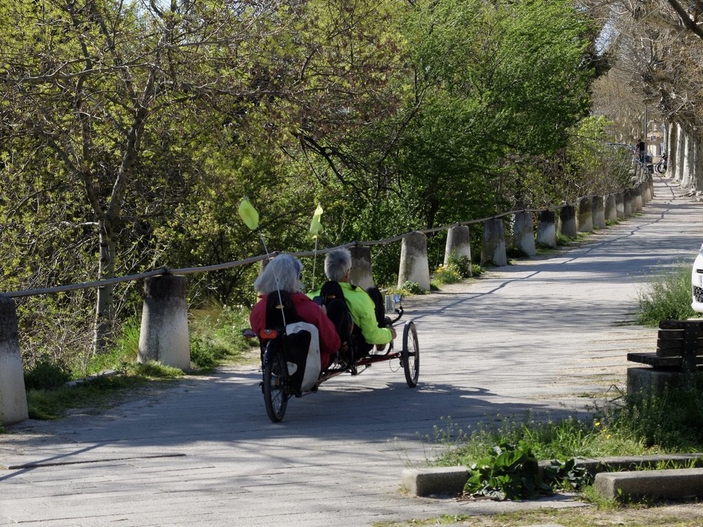
[{"label": "dark red jacket worn by the white-haired rear rider", "polygon": [[[252,325],[252,330],[259,333],[266,329],[266,295],[262,294],[259,297],[261,300],[252,308],[252,314],[249,315],[249,322]],[[330,364],[331,356],[337,353],[342,343],[340,336],[335,330],[335,326],[327,315],[322,312],[320,306],[309,299],[303,293],[292,293],[290,299],[293,301],[295,311],[298,313],[300,320],[315,325],[320,333],[320,359],[323,369]]]}]

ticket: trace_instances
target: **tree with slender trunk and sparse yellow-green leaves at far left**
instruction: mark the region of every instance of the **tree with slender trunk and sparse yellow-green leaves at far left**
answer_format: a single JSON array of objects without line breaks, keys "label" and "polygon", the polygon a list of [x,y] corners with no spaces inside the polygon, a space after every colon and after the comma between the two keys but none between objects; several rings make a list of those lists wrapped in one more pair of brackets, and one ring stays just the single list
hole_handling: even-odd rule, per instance
[{"label": "tree with slender trunk and sparse yellow-green leaves at far left", "polygon": [[[84,221],[96,225],[97,278],[115,275],[128,190],[153,190],[154,175],[138,163],[159,129],[183,108],[227,105],[241,118],[276,96],[284,7],[20,0],[0,8],[1,147],[22,160],[51,152],[67,183],[79,182]],[[98,289],[97,350],[110,341],[112,292]]]}]

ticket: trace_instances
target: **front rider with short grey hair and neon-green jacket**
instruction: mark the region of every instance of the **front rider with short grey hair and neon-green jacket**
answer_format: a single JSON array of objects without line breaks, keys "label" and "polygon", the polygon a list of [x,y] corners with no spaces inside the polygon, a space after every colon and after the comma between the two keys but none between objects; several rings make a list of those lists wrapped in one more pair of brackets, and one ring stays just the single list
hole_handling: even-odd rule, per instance
[{"label": "front rider with short grey hair and neon-green jacket", "polygon": [[[325,276],[333,282],[339,282],[344,294],[349,314],[354,325],[361,330],[361,336],[366,341],[357,343],[361,351],[368,352],[374,344],[382,347],[396,337],[393,327],[380,327],[376,319],[375,304],[369,294],[356,285],[349,283],[349,271],[352,270],[352,254],[349,249],[334,249],[325,256]],[[309,297],[319,297],[320,289],[308,294]]]}]

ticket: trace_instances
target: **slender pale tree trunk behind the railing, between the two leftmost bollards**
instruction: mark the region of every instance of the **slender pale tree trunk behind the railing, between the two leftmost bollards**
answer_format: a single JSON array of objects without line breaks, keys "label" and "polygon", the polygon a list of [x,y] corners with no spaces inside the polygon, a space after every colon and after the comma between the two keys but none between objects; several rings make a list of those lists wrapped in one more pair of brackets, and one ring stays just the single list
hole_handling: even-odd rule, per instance
[{"label": "slender pale tree trunk behind the railing, between the two leftmost bollards", "polygon": [[[109,219],[101,219],[100,229],[100,263],[98,264],[98,280],[115,278],[115,229]],[[114,285],[98,287],[98,301],[95,316],[95,338],[93,345],[96,353],[107,351],[112,344],[114,330],[114,302],[112,290]]]}]

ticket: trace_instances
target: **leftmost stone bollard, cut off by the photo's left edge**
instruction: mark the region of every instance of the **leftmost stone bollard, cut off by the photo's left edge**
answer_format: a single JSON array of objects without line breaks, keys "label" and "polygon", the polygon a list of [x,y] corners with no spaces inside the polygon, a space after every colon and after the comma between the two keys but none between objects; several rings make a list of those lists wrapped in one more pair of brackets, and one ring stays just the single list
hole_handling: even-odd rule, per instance
[{"label": "leftmost stone bollard, cut off by the photo's left edge", "polygon": [[0,297],[0,423],[29,418],[15,301]]}]

